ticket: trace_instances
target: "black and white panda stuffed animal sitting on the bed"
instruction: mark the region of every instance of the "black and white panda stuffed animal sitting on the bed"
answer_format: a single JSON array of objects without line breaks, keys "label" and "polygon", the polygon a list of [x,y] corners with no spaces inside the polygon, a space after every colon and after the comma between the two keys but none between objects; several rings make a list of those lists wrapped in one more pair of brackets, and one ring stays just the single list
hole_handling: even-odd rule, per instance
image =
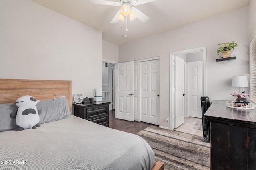
[{"label": "black and white panda stuffed animal sitting on the bed", "polygon": [[16,100],[16,105],[19,107],[18,111],[14,111],[10,117],[16,117],[16,131],[24,129],[39,127],[39,115],[36,104],[39,100],[32,96],[22,96]]}]

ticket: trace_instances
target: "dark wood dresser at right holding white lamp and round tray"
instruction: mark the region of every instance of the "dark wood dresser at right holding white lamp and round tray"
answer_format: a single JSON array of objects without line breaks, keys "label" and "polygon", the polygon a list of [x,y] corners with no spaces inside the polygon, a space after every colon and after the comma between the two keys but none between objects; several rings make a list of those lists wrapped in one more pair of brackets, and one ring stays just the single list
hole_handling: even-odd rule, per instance
[{"label": "dark wood dresser at right holding white lamp and round tray", "polygon": [[210,121],[211,170],[255,170],[256,110],[215,100],[204,116]]}]

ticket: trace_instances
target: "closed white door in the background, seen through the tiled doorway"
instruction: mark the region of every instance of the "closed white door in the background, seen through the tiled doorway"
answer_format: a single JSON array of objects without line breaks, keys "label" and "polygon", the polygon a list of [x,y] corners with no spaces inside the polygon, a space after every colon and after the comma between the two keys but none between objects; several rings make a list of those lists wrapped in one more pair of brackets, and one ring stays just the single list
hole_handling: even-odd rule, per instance
[{"label": "closed white door in the background, seen through the tiled doorway", "polygon": [[203,61],[187,63],[187,115],[202,118]]}]

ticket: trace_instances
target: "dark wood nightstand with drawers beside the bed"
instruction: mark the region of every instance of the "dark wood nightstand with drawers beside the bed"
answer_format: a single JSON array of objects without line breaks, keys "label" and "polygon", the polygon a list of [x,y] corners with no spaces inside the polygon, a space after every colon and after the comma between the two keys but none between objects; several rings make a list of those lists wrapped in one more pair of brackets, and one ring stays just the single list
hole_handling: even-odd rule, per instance
[{"label": "dark wood nightstand with drawers beside the bed", "polygon": [[99,125],[109,127],[109,104],[111,102],[90,102],[73,104],[74,115]]}]

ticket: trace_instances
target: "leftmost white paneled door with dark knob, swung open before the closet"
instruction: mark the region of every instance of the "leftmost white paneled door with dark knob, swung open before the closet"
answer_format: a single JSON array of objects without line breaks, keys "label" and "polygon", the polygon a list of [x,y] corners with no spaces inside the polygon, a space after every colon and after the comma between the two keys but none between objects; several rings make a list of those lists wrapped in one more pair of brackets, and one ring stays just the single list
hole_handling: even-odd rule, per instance
[{"label": "leftmost white paneled door with dark knob, swung open before the closet", "polygon": [[116,64],[116,118],[134,121],[134,61]]}]

